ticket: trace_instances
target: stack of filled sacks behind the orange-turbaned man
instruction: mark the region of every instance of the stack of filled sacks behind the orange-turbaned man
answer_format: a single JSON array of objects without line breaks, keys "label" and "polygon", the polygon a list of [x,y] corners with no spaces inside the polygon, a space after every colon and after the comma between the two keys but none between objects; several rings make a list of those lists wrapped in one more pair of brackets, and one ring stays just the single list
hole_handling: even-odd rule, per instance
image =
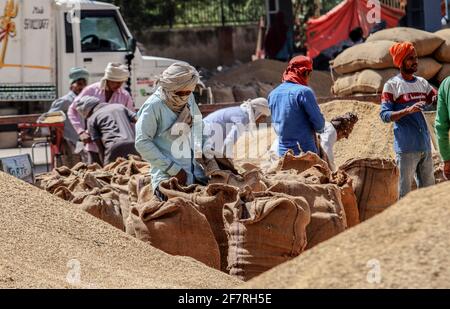
[{"label": "stack of filled sacks behind the orange-turbaned man", "polygon": [[399,73],[389,49],[396,42],[414,44],[419,56],[418,76],[441,83],[450,76],[450,29],[436,33],[414,28],[392,28],[376,32],[365,43],[346,49],[331,61],[339,77],[335,95],[381,93],[384,84]]}]

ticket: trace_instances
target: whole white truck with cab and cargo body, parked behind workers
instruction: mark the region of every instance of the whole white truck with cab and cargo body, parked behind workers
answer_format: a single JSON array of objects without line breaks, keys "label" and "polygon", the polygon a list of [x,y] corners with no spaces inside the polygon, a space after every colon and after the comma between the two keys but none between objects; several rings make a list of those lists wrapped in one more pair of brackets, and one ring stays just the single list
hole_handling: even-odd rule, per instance
[{"label": "whole white truck with cab and cargo body, parked behind workers", "polygon": [[11,107],[42,112],[36,107],[48,107],[69,91],[72,67],[88,69],[92,83],[100,80],[108,62],[129,65],[128,87],[139,108],[156,76],[175,61],[142,56],[112,4],[0,0],[0,115]]}]

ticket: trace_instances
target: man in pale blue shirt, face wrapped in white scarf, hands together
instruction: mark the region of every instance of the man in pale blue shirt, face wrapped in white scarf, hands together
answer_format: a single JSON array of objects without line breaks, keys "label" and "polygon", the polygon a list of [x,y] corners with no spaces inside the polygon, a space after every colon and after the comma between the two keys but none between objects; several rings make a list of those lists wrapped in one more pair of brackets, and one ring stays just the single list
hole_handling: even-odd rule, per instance
[{"label": "man in pale blue shirt, face wrapped in white scarf, hands together", "polygon": [[[203,144],[202,117],[192,94],[198,82],[194,67],[184,63],[171,65],[138,114],[136,149],[151,164],[152,187],[161,199],[164,197],[159,184],[171,177],[182,185],[207,181],[194,157]],[[187,142],[179,145],[183,136]]]}]

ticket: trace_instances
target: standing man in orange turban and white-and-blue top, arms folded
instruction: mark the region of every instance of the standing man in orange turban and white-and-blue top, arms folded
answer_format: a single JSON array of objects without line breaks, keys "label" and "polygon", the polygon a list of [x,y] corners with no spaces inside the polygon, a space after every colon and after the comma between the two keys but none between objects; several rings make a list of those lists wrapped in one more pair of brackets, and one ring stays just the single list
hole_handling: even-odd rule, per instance
[{"label": "standing man in orange turban and white-and-blue top, arms folded", "polygon": [[394,149],[402,198],[411,191],[414,177],[419,188],[435,184],[430,132],[422,110],[435,102],[436,90],[427,80],[414,75],[418,59],[412,43],[397,43],[390,52],[400,74],[384,85],[380,116],[386,123],[395,123]]}]

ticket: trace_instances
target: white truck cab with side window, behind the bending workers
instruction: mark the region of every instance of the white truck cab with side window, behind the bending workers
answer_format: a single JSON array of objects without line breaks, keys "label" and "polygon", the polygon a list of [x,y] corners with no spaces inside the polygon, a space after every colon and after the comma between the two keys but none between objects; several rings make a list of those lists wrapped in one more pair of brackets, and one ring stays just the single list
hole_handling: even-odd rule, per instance
[{"label": "white truck cab with side window, behind the bending workers", "polygon": [[176,62],[142,56],[119,8],[86,0],[56,1],[58,42],[58,93],[69,91],[69,70],[80,66],[90,72],[90,83],[99,81],[109,62],[129,65],[129,90],[136,108],[152,93],[157,75]]}]

